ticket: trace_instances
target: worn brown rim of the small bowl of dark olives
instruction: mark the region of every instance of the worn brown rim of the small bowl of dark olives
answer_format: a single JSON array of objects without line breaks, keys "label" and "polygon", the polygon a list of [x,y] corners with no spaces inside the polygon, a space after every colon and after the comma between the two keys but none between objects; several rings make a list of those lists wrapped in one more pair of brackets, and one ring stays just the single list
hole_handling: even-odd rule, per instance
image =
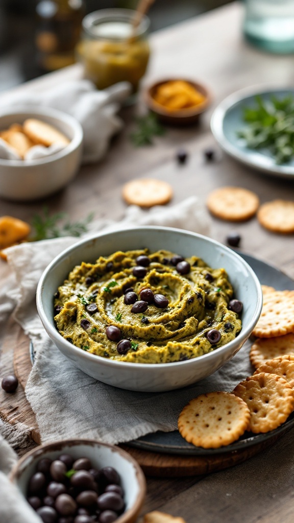
[{"label": "worn brown rim of the small bowl of dark olives", "polygon": [[[9,474],[9,480],[11,482],[17,483],[17,480],[19,479],[21,475],[21,471],[19,470],[21,466],[26,462],[26,460],[30,460],[30,458],[37,458],[40,454],[42,455],[43,451],[45,452],[51,452],[54,450],[58,450],[56,447],[60,446],[60,450],[62,451],[62,448],[64,446],[69,447],[76,447],[79,445],[88,445],[91,447],[99,446],[99,447],[107,447],[108,449],[111,449],[112,451],[117,452],[120,454],[120,456],[125,459],[126,461],[129,461],[132,463],[134,469],[135,469],[135,476],[138,481],[139,486],[139,492],[137,495],[137,498],[135,499],[134,504],[125,512],[123,513],[116,521],[117,523],[128,523],[129,518],[131,516],[136,515],[139,513],[139,510],[143,504],[145,495],[146,495],[146,480],[144,473],[139,465],[139,463],[129,454],[126,450],[121,449],[117,445],[110,445],[109,443],[104,443],[102,441],[99,441],[97,439],[93,438],[69,438],[69,439],[61,439],[58,441],[51,441],[48,443],[44,443],[42,445],[39,445],[38,447],[35,447],[32,450],[29,450],[22,456],[17,463],[14,465],[12,471]],[[29,462],[31,464],[31,462]]]}]

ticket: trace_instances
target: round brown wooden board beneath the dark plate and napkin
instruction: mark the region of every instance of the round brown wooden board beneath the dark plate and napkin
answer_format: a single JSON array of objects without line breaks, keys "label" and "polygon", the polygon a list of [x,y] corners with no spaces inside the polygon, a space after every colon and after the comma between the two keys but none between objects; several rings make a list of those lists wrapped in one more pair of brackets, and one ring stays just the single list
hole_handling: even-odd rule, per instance
[{"label": "round brown wooden board beneath the dark plate and napkin", "polygon": [[[8,345],[11,347],[11,344],[15,347],[14,372],[19,380],[20,386],[15,394],[8,395],[2,391],[0,415],[10,424],[22,422],[29,425],[32,440],[35,441],[36,444],[40,444],[41,437],[36,417],[24,393],[24,388],[32,367],[29,354],[29,339],[15,323],[11,326],[10,334],[8,338],[6,336],[5,340],[6,347],[8,347]],[[277,439],[278,436],[275,436],[270,440],[247,449],[227,452],[219,454],[218,456],[205,457],[176,456],[175,454],[139,450],[129,447],[128,445],[120,446],[127,450],[138,461],[146,475],[178,477],[208,474],[233,467],[233,465],[242,463],[270,445],[273,445]]]}]

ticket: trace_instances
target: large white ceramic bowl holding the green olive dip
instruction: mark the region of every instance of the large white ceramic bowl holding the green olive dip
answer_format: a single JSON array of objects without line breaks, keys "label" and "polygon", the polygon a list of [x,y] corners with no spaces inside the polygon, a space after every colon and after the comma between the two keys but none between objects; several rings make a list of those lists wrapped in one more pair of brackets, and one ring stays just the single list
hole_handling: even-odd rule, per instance
[{"label": "large white ceramic bowl holding the green olive dip", "polygon": [[[212,268],[224,267],[235,296],[243,302],[242,330],[237,338],[209,354],[173,363],[129,363],[89,354],[67,342],[53,320],[53,294],[75,265],[93,262],[100,255],[148,247],[167,249],[188,257],[196,255]],[[37,289],[37,307],[47,333],[76,367],[97,380],[121,389],[155,392],[179,389],[205,378],[230,360],[242,347],[262,309],[262,290],[251,267],[232,249],[193,232],[167,227],[141,226],[99,234],[78,242],[57,256],[43,272]]]}]

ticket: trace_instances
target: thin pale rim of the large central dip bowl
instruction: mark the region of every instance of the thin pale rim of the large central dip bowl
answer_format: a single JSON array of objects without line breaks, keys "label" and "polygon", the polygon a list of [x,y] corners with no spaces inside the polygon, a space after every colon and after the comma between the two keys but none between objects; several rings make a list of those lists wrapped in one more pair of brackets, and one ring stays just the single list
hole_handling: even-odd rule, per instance
[{"label": "thin pale rim of the large central dip bowl", "polygon": [[[76,347],[75,345],[68,342],[65,338],[63,338],[63,336],[61,336],[61,334],[58,332],[58,330],[51,325],[51,323],[48,320],[48,318],[44,312],[44,309],[43,309],[43,303],[42,303],[43,287],[44,287],[44,282],[50,275],[50,271],[52,269],[54,269],[54,267],[57,264],[59,264],[60,260],[62,260],[62,258],[66,258],[68,255],[70,255],[73,251],[75,251],[75,249],[77,247],[81,247],[82,245],[87,244],[101,236],[116,235],[118,232],[122,232],[122,231],[123,232],[130,231],[132,233],[134,231],[140,231],[142,229],[149,230],[151,232],[154,230],[169,231],[169,232],[174,232],[176,234],[180,233],[180,234],[183,234],[186,236],[194,236],[194,237],[200,238],[202,240],[204,239],[205,241],[207,241],[209,243],[217,245],[218,248],[223,249],[223,251],[225,253],[227,253],[230,257],[238,258],[239,262],[241,262],[241,265],[243,265],[244,268],[247,270],[247,272],[250,274],[252,280],[254,281],[255,288],[257,291],[257,300],[256,300],[256,304],[255,304],[255,310],[252,314],[252,318],[251,318],[250,322],[248,322],[248,325],[245,328],[243,328],[243,325],[242,325],[242,329],[241,329],[241,332],[240,332],[238,338],[232,339],[231,342],[222,345],[221,347],[219,347],[216,350],[211,351],[210,353],[203,354],[202,356],[197,356],[197,358],[191,358],[191,359],[185,360],[185,361],[173,361],[168,364],[167,363],[135,363],[135,362],[129,362],[129,361],[111,360],[111,359],[103,358],[102,356],[98,356],[96,354],[87,353],[84,350],[81,350],[79,347]],[[229,275],[229,277],[230,277],[230,275]],[[114,365],[117,365],[118,367],[123,365],[123,368],[126,368],[126,369],[128,368],[128,369],[133,369],[133,370],[134,369],[136,369],[136,370],[137,369],[146,369],[146,368],[163,369],[163,368],[166,368],[167,365],[168,365],[168,368],[174,368],[175,366],[181,366],[181,365],[191,365],[191,364],[193,364],[193,362],[195,363],[195,361],[198,361],[200,359],[203,360],[204,358],[211,357],[211,355],[214,354],[216,351],[218,354],[221,354],[222,352],[227,351],[228,348],[230,349],[231,347],[233,347],[236,343],[238,343],[238,344],[240,344],[240,346],[242,346],[243,343],[248,338],[248,336],[250,336],[250,334],[252,333],[253,328],[255,327],[255,325],[258,321],[259,315],[262,310],[263,293],[262,293],[261,284],[260,284],[255,272],[253,271],[253,269],[250,267],[250,265],[247,264],[247,262],[241,256],[239,256],[238,253],[233,251],[233,249],[221,244],[220,242],[218,242],[216,240],[212,240],[212,238],[209,238],[208,236],[204,236],[202,234],[195,233],[192,231],[186,231],[184,229],[176,229],[176,228],[172,228],[172,227],[164,227],[164,226],[157,226],[157,225],[141,225],[139,227],[131,227],[131,228],[128,227],[128,228],[123,228],[123,229],[117,229],[116,231],[111,231],[108,233],[107,232],[96,233],[96,234],[88,236],[87,238],[84,238],[80,242],[74,243],[70,247],[67,247],[66,249],[64,249],[64,251],[62,251],[59,255],[57,255],[50,262],[50,264],[47,266],[47,268],[43,271],[41,278],[39,280],[39,283],[38,283],[38,287],[37,287],[36,302],[37,302],[37,310],[38,310],[40,319],[41,319],[44,327],[46,328],[46,331],[50,333],[50,337],[53,340],[53,342],[55,343],[55,345],[58,345],[58,342],[64,343],[68,349],[70,349],[74,352],[74,354],[76,354],[78,357],[85,358],[86,360],[88,360],[88,362],[91,362],[91,361],[92,362],[94,362],[94,361],[103,362],[104,365],[111,366],[111,367],[113,367]]]}]

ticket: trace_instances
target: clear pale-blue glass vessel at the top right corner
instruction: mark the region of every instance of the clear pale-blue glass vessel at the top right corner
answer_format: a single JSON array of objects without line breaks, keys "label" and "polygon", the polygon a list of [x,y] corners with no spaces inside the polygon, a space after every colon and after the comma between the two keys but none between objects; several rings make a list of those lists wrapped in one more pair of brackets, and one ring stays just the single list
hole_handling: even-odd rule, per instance
[{"label": "clear pale-blue glass vessel at the top right corner", "polygon": [[244,34],[256,47],[294,52],[294,0],[245,0]]}]

